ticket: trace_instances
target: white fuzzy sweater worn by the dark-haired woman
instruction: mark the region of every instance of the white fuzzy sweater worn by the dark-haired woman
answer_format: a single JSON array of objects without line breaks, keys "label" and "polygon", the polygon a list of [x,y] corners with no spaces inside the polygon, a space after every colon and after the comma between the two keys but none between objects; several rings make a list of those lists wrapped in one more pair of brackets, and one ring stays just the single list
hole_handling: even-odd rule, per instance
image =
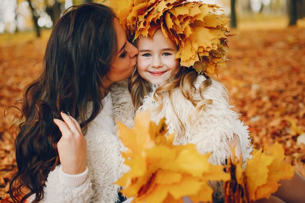
[{"label": "white fuzzy sweater worn by the dark-haired woman", "polygon": [[[114,95],[118,95],[115,93]],[[114,98],[114,100],[117,100]],[[115,203],[119,177],[127,172],[121,158],[121,143],[114,131],[111,93],[104,108],[89,124],[85,135],[88,148],[87,170],[82,174],[65,174],[61,166],[49,173],[40,203]]]}]

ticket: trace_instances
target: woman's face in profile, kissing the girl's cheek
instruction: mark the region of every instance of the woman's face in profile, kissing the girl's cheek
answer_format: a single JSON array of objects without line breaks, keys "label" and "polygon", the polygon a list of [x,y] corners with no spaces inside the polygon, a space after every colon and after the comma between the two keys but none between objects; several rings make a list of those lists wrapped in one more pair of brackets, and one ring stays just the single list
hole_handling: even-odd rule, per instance
[{"label": "woman's face in profile, kissing the girl's cheek", "polygon": [[135,64],[138,50],[126,37],[126,32],[123,26],[114,19],[114,28],[117,38],[117,53],[115,53],[114,61],[110,64],[110,70],[107,77],[103,77],[103,86],[109,87],[113,82],[121,81],[131,76]]}]

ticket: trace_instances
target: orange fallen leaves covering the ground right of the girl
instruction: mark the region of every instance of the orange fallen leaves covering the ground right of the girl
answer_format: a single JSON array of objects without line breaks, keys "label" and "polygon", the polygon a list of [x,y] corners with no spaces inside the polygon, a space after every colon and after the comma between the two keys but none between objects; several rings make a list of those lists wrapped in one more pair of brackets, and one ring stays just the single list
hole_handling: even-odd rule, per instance
[{"label": "orange fallen leaves covering the ground right of the girl", "polygon": [[305,177],[305,29],[231,33],[228,68],[219,74],[230,103],[249,126],[255,148],[278,141]]}]

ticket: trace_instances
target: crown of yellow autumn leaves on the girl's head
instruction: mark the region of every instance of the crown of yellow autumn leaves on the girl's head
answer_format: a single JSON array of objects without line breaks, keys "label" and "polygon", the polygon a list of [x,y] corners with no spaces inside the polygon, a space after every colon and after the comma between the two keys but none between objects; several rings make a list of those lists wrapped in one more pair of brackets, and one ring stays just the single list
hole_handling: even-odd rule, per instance
[{"label": "crown of yellow autumn leaves on the girl's head", "polygon": [[182,67],[199,74],[218,74],[217,64],[226,62],[229,19],[217,5],[187,0],[108,0],[120,23],[136,39],[152,37],[161,28],[178,46]]}]

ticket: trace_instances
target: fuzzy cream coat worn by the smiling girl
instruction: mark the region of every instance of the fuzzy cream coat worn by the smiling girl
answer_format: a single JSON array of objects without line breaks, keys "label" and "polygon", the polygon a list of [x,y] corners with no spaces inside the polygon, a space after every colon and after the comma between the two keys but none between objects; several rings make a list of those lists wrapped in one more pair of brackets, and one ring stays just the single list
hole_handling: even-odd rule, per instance
[{"label": "fuzzy cream coat worn by the smiling girl", "polygon": [[[205,80],[203,75],[199,75],[194,84],[195,88],[199,89],[200,84]],[[242,157],[245,161],[251,158],[252,151],[248,126],[239,120],[240,115],[233,111],[232,106],[229,105],[225,87],[216,80],[212,79],[211,82],[210,88],[204,92],[204,98],[211,99],[213,103],[206,105],[205,111],[196,115],[195,123],[192,125],[189,116],[195,107],[182,95],[179,88],[173,92],[173,105],[169,95],[163,94],[163,108],[161,111],[157,111],[157,103],[151,94],[144,98],[143,105],[137,112],[151,111],[152,120],[156,123],[165,117],[169,132],[175,132],[174,144],[193,143],[202,154],[212,152],[210,157],[212,164],[225,164],[226,158],[231,154],[228,143],[233,139],[233,134],[236,134],[240,140]],[[125,123],[128,127],[133,127],[133,120],[129,119],[133,116],[133,108],[130,104],[132,101],[126,86],[127,83],[121,82],[115,87],[116,92],[120,92],[120,95],[116,97],[118,100],[114,102],[114,115],[123,123],[128,121]],[[200,99],[199,92],[196,92],[195,97]],[[181,128],[178,118],[185,129]]]}]

